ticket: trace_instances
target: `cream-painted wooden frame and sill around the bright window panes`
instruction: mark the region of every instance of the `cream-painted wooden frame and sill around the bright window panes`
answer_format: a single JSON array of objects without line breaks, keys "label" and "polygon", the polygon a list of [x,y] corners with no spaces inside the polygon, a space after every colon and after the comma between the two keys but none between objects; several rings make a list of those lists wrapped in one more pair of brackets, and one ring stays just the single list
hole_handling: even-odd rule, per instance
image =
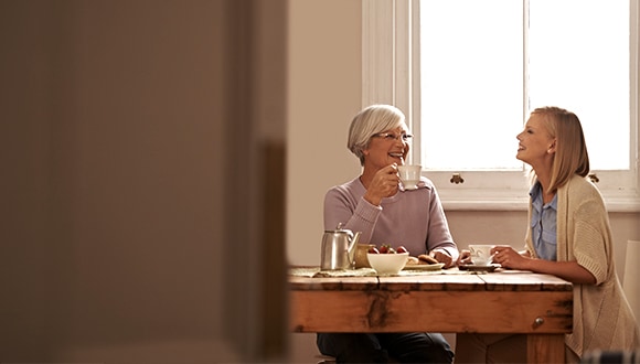
[{"label": "cream-painted wooden frame and sill around the bright window panes", "polygon": [[[419,0],[362,0],[362,106],[385,103],[405,113],[415,136],[414,161],[420,156],[419,38],[417,26],[413,26],[419,23],[418,7]],[[610,212],[640,212],[640,7],[637,1],[630,1],[630,42],[636,44],[630,46],[631,169],[591,171]],[[465,182],[452,183],[454,173]],[[434,181],[446,210],[523,211],[527,206],[529,185],[522,172],[423,170],[423,175]]]}]

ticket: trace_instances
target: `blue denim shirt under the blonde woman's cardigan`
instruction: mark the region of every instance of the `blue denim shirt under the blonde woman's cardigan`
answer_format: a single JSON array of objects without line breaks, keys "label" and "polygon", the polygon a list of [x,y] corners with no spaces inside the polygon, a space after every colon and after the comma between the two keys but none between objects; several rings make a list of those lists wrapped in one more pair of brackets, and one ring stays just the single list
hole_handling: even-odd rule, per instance
[{"label": "blue denim shirt under the blonde woman's cardigan", "polygon": [[531,195],[531,238],[535,254],[541,259],[557,260],[557,194],[546,205],[542,201],[540,182],[529,192]]}]

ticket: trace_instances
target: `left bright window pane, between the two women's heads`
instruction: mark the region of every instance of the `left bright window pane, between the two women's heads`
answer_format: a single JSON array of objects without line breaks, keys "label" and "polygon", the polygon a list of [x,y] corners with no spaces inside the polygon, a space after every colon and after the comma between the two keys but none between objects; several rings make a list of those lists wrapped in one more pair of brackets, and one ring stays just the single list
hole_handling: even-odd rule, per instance
[{"label": "left bright window pane, between the two women's heads", "polygon": [[521,1],[420,1],[426,169],[522,169],[522,28]]}]

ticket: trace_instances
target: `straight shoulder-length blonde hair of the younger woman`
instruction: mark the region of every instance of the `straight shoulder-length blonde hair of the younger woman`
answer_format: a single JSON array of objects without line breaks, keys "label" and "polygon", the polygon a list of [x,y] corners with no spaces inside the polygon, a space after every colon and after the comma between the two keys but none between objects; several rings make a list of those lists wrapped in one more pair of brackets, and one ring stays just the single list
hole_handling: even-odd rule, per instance
[{"label": "straight shoulder-length blonde hair of the younger woman", "polygon": [[574,174],[586,176],[589,173],[589,153],[578,117],[554,106],[540,107],[531,114],[542,116],[548,133],[556,139],[550,192],[555,193]]}]

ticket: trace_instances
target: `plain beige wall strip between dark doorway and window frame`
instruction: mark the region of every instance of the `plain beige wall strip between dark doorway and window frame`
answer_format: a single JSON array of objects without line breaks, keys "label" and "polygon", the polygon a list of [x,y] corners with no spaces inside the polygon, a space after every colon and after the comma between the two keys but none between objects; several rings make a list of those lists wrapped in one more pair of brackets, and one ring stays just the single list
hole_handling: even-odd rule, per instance
[{"label": "plain beige wall strip between dark doorway and window frame", "polygon": [[361,1],[289,2],[287,253],[320,264],[322,201],[360,172],[346,129],[361,108]]}]

